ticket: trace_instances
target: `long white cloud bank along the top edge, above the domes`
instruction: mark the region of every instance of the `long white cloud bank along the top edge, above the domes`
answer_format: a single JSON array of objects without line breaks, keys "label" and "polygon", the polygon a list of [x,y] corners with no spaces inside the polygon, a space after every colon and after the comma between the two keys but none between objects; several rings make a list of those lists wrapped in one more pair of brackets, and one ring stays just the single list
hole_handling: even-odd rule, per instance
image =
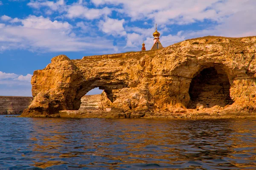
[{"label": "long white cloud bank along the top edge, above the domes", "polygon": [[131,20],[153,19],[159,24],[189,24],[212,20],[221,22],[239,11],[255,8],[255,0],[92,0],[97,5],[122,5],[119,13]]}]

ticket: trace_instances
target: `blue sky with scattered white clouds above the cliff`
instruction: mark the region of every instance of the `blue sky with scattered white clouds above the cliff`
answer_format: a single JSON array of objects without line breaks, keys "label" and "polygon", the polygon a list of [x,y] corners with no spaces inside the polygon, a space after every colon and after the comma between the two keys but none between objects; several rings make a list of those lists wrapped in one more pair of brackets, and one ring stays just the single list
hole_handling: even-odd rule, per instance
[{"label": "blue sky with scattered white clouds above the cliff", "polygon": [[[0,96],[32,96],[51,58],[147,50],[186,39],[256,36],[256,0],[0,0]],[[98,94],[99,90],[90,94]]]}]

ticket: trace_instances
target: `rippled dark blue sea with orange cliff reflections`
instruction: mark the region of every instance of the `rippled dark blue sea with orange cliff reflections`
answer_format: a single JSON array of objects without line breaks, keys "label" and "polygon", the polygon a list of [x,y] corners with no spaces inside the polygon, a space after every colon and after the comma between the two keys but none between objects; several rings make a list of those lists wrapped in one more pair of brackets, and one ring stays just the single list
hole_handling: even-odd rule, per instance
[{"label": "rippled dark blue sea with orange cliff reflections", "polygon": [[256,169],[256,120],[0,122],[0,169]]}]

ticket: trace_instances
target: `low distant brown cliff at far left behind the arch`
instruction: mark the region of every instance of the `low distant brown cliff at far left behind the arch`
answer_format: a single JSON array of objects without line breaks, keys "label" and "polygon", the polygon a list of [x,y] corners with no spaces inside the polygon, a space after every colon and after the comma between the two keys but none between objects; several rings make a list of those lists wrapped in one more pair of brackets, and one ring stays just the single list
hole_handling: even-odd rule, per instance
[{"label": "low distant brown cliff at far left behind the arch", "polygon": [[21,114],[33,97],[0,96],[0,114]]}]

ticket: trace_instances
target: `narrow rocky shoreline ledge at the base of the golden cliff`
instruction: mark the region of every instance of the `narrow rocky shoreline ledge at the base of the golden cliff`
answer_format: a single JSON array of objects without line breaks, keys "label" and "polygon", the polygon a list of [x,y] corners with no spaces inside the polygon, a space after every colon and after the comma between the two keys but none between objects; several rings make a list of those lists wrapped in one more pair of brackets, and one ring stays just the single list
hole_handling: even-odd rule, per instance
[{"label": "narrow rocky shoreline ledge at the base of the golden cliff", "polygon": [[256,112],[188,112],[188,113],[171,113],[171,112],[146,112],[146,113],[123,113],[123,112],[106,112],[106,111],[60,111],[55,114],[37,114],[17,117],[34,117],[34,118],[107,118],[107,119],[256,119]]}]

